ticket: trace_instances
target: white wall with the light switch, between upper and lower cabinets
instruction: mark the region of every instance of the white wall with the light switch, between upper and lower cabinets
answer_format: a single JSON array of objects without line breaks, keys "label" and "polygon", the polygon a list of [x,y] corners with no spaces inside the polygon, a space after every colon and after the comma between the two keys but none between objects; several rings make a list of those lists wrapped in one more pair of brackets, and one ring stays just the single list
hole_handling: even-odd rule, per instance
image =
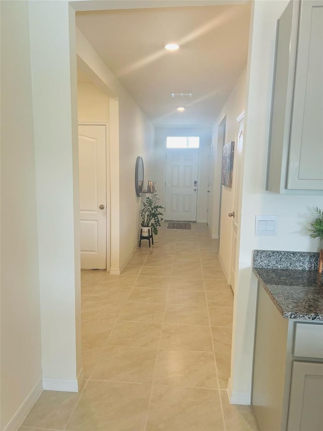
[{"label": "white wall with the light switch, between upper and lower cabinets", "polygon": [[[311,213],[316,206],[322,208],[323,197],[286,196],[265,191],[276,21],[287,4],[287,0],[257,1],[253,3],[251,22],[231,364],[232,394],[249,402],[256,302],[256,282],[251,271],[252,251],[317,251],[319,248],[318,241],[312,240],[306,231],[308,219],[299,215]],[[254,235],[256,214],[278,215],[276,236]]]}]

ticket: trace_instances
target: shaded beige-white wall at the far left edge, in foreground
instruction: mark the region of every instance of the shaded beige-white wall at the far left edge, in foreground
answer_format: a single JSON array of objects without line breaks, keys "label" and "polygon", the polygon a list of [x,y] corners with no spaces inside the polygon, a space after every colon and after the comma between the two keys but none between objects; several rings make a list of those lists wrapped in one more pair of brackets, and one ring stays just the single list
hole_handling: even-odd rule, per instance
[{"label": "shaded beige-white wall at the far left edge, in foreground", "polygon": [[[14,35],[14,37],[13,37]],[[28,4],[1,2],[1,425],[41,390]]]}]

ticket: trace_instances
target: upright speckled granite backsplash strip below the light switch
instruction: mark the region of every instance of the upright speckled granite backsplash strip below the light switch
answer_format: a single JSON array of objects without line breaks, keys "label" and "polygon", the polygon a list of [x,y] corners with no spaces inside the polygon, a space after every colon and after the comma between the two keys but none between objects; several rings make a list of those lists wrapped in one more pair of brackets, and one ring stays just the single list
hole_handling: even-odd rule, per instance
[{"label": "upright speckled granite backsplash strip below the light switch", "polygon": [[254,268],[317,269],[318,253],[254,250]]}]

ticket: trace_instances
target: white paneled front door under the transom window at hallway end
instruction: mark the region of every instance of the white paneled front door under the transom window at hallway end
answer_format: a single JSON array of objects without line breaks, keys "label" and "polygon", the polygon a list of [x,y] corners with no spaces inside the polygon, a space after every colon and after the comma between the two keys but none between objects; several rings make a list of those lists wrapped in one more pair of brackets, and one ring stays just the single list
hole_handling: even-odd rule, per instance
[{"label": "white paneled front door under the transom window at hallway end", "polygon": [[166,151],[165,220],[196,221],[198,149]]}]

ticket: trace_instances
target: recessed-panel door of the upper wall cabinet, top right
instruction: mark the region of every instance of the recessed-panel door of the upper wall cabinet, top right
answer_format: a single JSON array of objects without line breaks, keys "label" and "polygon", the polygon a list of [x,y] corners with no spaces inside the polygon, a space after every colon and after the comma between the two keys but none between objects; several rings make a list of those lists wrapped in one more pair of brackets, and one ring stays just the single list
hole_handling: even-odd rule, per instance
[{"label": "recessed-panel door of the upper wall cabinet, top right", "polygon": [[323,0],[302,2],[287,188],[323,190]]}]

